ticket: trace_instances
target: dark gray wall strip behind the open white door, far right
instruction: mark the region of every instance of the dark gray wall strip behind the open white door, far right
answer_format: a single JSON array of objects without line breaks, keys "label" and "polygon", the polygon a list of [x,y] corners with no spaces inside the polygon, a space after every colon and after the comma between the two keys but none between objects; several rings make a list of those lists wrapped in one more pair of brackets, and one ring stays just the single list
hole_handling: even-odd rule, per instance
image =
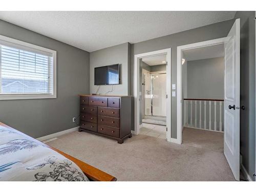
[{"label": "dark gray wall strip behind the open white door, far right", "polygon": [[254,11],[238,11],[240,18],[240,153],[252,179],[255,172],[255,23]]}]

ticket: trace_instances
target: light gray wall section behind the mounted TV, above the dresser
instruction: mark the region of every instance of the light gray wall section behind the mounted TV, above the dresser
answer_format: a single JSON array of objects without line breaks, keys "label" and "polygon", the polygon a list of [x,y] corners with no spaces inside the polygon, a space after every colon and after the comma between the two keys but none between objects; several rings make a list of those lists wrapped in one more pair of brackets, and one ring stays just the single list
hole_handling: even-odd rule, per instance
[{"label": "light gray wall section behind the mounted TV, above the dresser", "polygon": [[[120,64],[121,84],[114,85],[114,91],[108,95],[131,94],[131,45],[125,44],[101,49],[90,53],[90,93],[96,93],[98,86],[94,85],[94,68]],[[105,94],[112,86],[101,86],[98,94]]]}]

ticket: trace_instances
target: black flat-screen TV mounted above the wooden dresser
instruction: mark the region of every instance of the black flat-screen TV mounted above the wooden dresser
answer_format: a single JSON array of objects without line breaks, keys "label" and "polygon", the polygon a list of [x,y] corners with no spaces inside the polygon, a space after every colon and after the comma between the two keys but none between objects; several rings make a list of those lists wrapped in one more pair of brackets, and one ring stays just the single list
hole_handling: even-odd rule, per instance
[{"label": "black flat-screen TV mounted above the wooden dresser", "polygon": [[94,68],[94,84],[119,84],[119,64]]}]

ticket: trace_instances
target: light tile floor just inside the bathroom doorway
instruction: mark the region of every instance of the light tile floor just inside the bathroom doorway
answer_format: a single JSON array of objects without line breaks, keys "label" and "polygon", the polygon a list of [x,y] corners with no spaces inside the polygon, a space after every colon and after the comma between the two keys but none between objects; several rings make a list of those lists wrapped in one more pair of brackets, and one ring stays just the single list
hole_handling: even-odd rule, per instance
[{"label": "light tile floor just inside the bathroom doorway", "polygon": [[148,135],[159,139],[166,139],[166,126],[142,123],[141,135]]}]

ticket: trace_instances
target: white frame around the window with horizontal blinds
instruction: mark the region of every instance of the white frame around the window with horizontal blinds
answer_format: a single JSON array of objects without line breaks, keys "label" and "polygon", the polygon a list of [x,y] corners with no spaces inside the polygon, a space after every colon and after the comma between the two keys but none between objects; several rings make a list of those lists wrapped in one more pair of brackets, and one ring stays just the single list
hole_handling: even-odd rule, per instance
[{"label": "white frame around the window with horizontal blinds", "polygon": [[[17,40],[14,38],[6,37],[3,35],[0,35],[0,40],[4,40],[4,41],[11,42],[13,44],[17,44],[20,46],[26,46],[28,48],[48,52],[53,55],[53,93],[50,93],[50,94],[42,94],[42,93],[38,93],[38,94],[36,94],[36,93],[35,94],[0,94],[0,100],[54,99],[54,98],[57,98],[57,52],[54,50],[51,50],[51,49],[47,49],[44,47],[29,44],[28,42],[24,42],[24,41]],[[0,68],[0,70],[1,70],[1,68]]]}]

